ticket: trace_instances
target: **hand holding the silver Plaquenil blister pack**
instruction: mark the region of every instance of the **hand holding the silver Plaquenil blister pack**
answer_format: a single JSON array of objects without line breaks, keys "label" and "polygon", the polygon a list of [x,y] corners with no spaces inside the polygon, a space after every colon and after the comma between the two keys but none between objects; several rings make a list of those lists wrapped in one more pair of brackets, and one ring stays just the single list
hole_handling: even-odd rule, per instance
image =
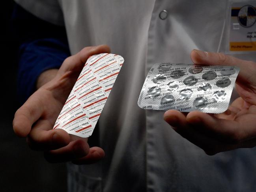
[{"label": "hand holding the silver Plaquenil blister pack", "polygon": [[191,60],[198,65],[240,67],[235,86],[240,97],[222,114],[168,110],[164,120],[208,155],[256,146],[256,63],[200,50],[192,50]]}]

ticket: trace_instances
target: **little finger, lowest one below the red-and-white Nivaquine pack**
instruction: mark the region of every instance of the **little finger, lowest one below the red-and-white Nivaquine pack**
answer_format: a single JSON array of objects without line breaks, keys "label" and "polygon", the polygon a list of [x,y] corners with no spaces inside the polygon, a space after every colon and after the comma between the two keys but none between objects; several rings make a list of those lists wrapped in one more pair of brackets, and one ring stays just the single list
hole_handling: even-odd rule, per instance
[{"label": "little finger, lowest one below the red-and-white Nivaquine pack", "polygon": [[100,147],[91,147],[89,154],[85,157],[73,160],[73,164],[82,165],[82,164],[92,164],[101,160],[105,156],[105,152]]}]

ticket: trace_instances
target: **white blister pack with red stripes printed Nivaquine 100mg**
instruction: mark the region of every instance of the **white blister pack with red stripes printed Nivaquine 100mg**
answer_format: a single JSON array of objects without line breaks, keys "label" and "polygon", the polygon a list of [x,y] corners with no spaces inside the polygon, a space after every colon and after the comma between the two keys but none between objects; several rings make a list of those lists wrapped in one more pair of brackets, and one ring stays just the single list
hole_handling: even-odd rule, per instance
[{"label": "white blister pack with red stripes printed Nivaquine 100mg", "polygon": [[78,76],[53,129],[89,137],[101,115],[124,59],[102,53],[91,56]]}]

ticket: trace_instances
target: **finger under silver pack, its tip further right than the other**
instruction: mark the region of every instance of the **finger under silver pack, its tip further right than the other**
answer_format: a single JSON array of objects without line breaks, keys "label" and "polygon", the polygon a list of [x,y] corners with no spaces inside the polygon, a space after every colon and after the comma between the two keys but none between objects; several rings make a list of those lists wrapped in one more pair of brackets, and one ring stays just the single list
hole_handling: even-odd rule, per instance
[{"label": "finger under silver pack, its tip further right than the other", "polygon": [[199,132],[225,143],[237,144],[246,137],[237,121],[218,119],[198,111],[190,112],[187,121]]}]

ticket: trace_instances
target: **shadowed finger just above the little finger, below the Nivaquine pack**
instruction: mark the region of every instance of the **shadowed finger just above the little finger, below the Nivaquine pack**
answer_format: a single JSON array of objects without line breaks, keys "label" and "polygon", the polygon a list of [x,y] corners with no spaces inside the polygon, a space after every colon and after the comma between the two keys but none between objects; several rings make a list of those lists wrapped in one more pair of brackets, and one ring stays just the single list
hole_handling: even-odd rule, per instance
[{"label": "shadowed finger just above the little finger, below the Nivaquine pack", "polygon": [[45,151],[44,156],[51,163],[67,162],[88,155],[90,147],[86,140],[78,139],[60,149]]}]

